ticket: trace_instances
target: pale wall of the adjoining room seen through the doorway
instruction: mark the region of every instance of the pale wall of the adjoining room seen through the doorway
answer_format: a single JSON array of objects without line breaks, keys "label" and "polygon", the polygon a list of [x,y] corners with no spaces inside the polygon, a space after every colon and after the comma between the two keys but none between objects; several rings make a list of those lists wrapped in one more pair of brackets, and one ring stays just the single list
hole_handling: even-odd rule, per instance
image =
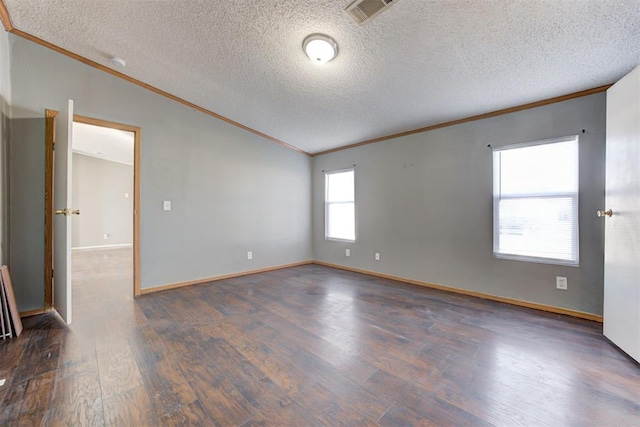
[{"label": "pale wall of the adjoining room seen through the doorway", "polygon": [[72,246],[132,244],[133,166],[73,153],[72,173]]}]

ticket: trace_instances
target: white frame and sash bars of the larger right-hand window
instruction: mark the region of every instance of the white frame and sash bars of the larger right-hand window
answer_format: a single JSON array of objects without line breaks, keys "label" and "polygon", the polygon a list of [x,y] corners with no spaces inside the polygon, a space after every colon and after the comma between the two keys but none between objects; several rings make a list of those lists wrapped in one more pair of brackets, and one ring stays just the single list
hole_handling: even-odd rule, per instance
[{"label": "white frame and sash bars of the larger right-hand window", "polygon": [[[576,143],[576,161],[577,161],[577,170],[576,170],[576,192],[553,192],[553,193],[536,193],[536,194],[518,194],[518,195],[510,195],[503,196],[499,193],[499,171],[497,162],[499,162],[498,155],[502,151],[518,149],[518,148],[526,148],[537,145],[548,145],[555,144],[561,142],[571,142],[575,141]],[[534,141],[522,144],[512,144],[503,147],[495,147],[493,148],[493,256],[495,258],[501,259],[510,259],[517,261],[528,261],[542,264],[556,264],[556,265],[565,265],[571,267],[578,267],[580,265],[580,224],[579,224],[579,193],[580,193],[580,138],[578,135],[570,135],[559,138],[545,139],[541,141]],[[573,217],[575,218],[575,222],[573,224],[572,229],[572,244],[575,245],[575,260],[565,260],[558,258],[544,258],[544,257],[536,257],[531,255],[519,255],[519,254],[508,254],[499,252],[499,233],[500,233],[500,215],[499,215],[499,203],[501,199],[535,199],[535,198],[553,198],[553,197],[571,197],[574,199],[573,201]]]}]

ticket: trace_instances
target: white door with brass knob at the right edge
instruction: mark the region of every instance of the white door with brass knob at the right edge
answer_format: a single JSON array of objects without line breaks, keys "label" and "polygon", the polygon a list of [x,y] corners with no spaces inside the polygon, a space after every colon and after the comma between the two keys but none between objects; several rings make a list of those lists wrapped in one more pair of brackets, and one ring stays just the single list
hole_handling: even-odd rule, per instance
[{"label": "white door with brass knob at the right edge", "polygon": [[604,335],[640,361],[640,67],[607,91]]}]

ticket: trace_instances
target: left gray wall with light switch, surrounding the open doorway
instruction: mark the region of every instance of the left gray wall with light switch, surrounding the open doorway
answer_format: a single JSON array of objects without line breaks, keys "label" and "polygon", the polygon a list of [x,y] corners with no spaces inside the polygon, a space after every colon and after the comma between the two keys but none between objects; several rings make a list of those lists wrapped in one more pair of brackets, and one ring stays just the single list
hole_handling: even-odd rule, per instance
[{"label": "left gray wall with light switch, surrounding the open doorway", "polygon": [[[76,114],[142,128],[143,288],[312,259],[308,157],[9,37],[13,117],[43,117],[46,108],[60,109],[72,98]],[[43,141],[44,126],[12,138],[14,146],[31,150],[37,170],[44,169]],[[34,173],[16,190],[19,198],[34,198],[42,212],[43,181]],[[163,200],[172,201],[172,211],[162,210]],[[35,217],[16,235],[41,248],[42,216]],[[28,262],[42,271],[41,258]],[[40,274],[16,286],[41,293],[42,282]],[[34,302],[21,298],[20,309]]]}]

